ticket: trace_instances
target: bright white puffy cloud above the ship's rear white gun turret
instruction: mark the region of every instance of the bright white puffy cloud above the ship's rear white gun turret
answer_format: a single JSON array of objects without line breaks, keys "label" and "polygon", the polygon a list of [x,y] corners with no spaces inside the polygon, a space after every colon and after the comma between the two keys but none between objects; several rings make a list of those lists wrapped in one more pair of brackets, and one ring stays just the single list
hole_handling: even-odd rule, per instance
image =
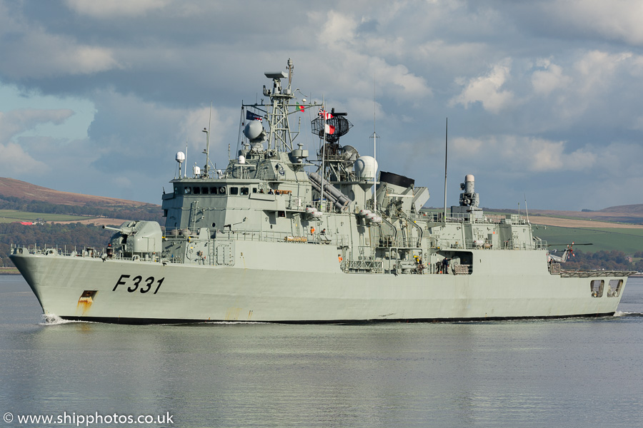
[{"label": "bright white puffy cloud above the ship's rear white gun turret", "polygon": [[512,61],[507,58],[495,64],[486,75],[463,81],[464,90],[452,98],[449,106],[462,104],[464,108],[469,108],[469,104],[481,102],[485,110],[494,114],[508,108],[512,105],[514,94],[503,90],[502,86],[511,77],[511,71]]}]

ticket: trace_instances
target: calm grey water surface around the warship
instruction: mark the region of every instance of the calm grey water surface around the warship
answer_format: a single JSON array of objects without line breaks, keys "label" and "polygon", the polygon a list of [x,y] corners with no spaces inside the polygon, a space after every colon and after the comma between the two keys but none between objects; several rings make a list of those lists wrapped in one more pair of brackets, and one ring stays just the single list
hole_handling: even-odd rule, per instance
[{"label": "calm grey water surface around the warship", "polygon": [[64,412],[172,415],[174,424],[150,427],[643,427],[643,280],[629,281],[619,311],[442,324],[46,325],[26,282],[0,275],[0,414],[14,417],[0,427],[44,427],[17,415]]}]

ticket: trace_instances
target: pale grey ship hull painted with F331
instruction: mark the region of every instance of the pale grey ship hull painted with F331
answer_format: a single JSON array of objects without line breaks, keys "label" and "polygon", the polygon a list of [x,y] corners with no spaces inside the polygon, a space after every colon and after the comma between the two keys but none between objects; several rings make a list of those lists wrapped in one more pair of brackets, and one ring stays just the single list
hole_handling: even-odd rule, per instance
[{"label": "pale grey ship hull painted with F331", "polygon": [[[508,251],[500,260],[477,250],[471,275],[387,275],[342,272],[330,246],[284,243],[275,252],[270,245],[237,243],[233,267],[28,252],[11,259],[45,315],[128,323],[601,316],[616,312],[624,290],[623,283],[617,295],[593,297],[594,277],[551,275],[542,252]],[[626,278],[599,279],[607,291],[609,280]]]}]

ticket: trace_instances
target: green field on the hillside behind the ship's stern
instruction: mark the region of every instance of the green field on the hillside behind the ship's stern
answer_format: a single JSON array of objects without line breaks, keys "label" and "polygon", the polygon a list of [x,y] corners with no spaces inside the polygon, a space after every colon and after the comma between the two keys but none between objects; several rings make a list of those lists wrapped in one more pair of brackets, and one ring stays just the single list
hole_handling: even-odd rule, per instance
[{"label": "green field on the hillside behind the ship's stern", "polygon": [[534,225],[534,235],[548,244],[567,245],[572,242],[592,243],[591,246],[578,247],[584,253],[600,250],[622,251],[625,254],[643,251],[643,229],[620,228],[558,228],[556,226]]}]

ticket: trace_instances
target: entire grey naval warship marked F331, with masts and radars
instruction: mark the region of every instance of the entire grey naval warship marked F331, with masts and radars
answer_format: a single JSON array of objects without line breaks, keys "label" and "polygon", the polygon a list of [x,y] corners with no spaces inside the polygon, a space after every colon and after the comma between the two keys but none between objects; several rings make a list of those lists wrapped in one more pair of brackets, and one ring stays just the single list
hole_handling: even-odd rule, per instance
[{"label": "entire grey naval warship marked F331, with masts and radars", "polygon": [[[633,272],[564,270],[567,252],[549,254],[529,221],[479,208],[470,174],[459,205],[423,210],[427,188],[342,146],[347,114],[299,98],[290,59],[286,70],[265,73],[265,103],[242,103],[238,152],[225,170],[210,161],[209,129],[202,168],[184,167],[176,153],[164,226],[123,223],[102,250],[13,248],[45,316],[152,323],[614,315]],[[316,160],[295,146],[306,113],[319,139]]]}]

